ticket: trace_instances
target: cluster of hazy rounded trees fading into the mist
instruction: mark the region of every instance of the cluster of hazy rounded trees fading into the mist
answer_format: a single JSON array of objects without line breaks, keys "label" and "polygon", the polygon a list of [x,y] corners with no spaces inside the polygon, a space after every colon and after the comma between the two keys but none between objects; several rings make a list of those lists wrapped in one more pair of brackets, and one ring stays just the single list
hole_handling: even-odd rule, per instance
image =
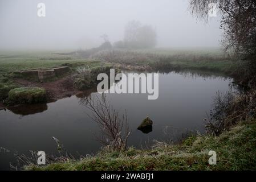
[{"label": "cluster of hazy rounded trees fading into the mist", "polygon": [[124,31],[124,39],[115,42],[115,48],[153,48],[157,43],[156,31],[149,25],[143,25],[136,20],[128,22]]}]

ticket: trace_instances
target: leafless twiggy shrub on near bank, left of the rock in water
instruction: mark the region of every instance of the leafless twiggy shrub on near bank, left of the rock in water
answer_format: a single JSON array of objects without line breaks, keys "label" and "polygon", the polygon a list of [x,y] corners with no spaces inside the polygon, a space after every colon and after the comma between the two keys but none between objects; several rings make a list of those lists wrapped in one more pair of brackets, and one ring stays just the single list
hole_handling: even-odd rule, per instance
[{"label": "leafless twiggy shrub on near bank, left of the rock in water", "polygon": [[88,116],[100,127],[103,134],[100,142],[115,150],[125,149],[131,134],[126,111],[120,115],[119,111],[113,109],[113,106],[106,100],[104,93],[101,98],[87,97],[82,104],[92,111]]}]

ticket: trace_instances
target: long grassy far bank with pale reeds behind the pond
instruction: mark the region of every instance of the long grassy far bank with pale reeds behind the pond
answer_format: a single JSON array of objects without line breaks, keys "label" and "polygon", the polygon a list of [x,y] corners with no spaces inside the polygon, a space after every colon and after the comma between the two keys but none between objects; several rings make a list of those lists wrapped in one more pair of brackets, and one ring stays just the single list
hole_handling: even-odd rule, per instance
[{"label": "long grassy far bank with pale reeds behind the pond", "polygon": [[232,75],[241,63],[224,55],[220,49],[200,50],[112,50],[102,51],[92,56],[95,60],[115,63],[118,67],[138,70],[172,71],[195,70],[214,71]]}]

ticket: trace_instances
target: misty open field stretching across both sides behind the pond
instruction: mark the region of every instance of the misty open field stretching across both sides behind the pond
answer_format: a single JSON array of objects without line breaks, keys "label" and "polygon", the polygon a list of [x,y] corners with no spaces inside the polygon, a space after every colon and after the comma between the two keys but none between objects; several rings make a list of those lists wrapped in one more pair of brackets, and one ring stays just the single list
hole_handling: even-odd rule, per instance
[{"label": "misty open field stretching across both sides behind the pond", "polygon": [[[145,49],[140,51],[123,51],[125,59],[129,62],[130,52],[138,52],[143,56],[150,53],[148,56],[141,58],[141,61],[136,60],[138,65],[154,64],[159,62],[159,55],[167,57],[164,60],[166,64],[178,65],[181,68],[190,69],[213,69],[214,71],[231,71],[237,67],[237,63],[224,56],[222,51],[217,48],[213,49]],[[117,54],[117,56],[120,56]],[[93,56],[92,56],[93,57]],[[94,58],[94,57],[93,57]],[[116,57],[108,62],[115,62]],[[135,57],[137,58],[137,57]],[[120,57],[117,57],[117,60]],[[73,67],[79,65],[97,67],[100,65],[99,59],[84,59],[79,55],[59,55],[55,52],[0,52],[0,75],[5,75],[13,71],[52,68],[61,65],[70,64]]]}]

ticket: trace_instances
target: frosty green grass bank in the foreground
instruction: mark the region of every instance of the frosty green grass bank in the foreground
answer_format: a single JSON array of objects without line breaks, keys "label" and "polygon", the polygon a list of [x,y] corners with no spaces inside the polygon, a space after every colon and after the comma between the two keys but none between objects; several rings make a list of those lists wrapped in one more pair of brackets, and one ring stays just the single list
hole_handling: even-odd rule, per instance
[{"label": "frosty green grass bank in the foreground", "polygon": [[[252,170],[256,169],[256,123],[239,125],[218,137],[189,137],[182,144],[157,143],[152,150],[103,150],[96,156],[34,164],[26,170]],[[209,165],[208,152],[217,152],[217,164]]]}]

